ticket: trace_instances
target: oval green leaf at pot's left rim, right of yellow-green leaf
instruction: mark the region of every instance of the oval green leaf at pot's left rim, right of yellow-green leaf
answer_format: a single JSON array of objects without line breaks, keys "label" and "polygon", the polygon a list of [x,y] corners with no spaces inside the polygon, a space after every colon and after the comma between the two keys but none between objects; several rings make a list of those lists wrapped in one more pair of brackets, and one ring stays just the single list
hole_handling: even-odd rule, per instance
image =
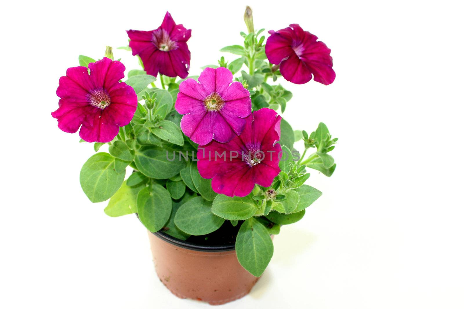
[{"label": "oval green leaf at pot's left rim, right of yellow-green leaf", "polygon": [[139,219],[150,232],[155,233],[164,227],[171,215],[171,209],[171,195],[157,183],[143,188],[137,195]]}]

